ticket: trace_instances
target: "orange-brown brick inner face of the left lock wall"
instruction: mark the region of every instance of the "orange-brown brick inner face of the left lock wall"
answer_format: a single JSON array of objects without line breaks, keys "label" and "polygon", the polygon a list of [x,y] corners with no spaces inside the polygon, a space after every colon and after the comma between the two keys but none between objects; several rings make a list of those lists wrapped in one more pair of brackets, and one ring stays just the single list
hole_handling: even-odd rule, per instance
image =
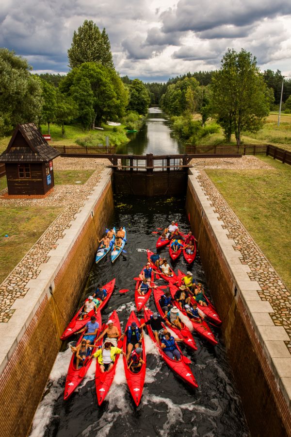
[{"label": "orange-brown brick inner face of the left lock wall", "polygon": [[[74,243],[67,254],[65,253],[64,262],[59,269],[56,269],[58,270],[56,275],[52,276],[54,278],[51,281],[53,299],[49,289],[45,290],[39,298],[41,302],[38,303],[30,322],[27,326],[23,326],[24,332],[21,338],[20,335],[15,338],[17,344],[13,350],[11,348],[12,352],[8,353],[8,363],[4,365],[2,361],[1,436],[26,436],[29,431],[49,372],[60,349],[59,336],[73,316],[84,280],[94,261],[97,235],[100,238],[113,212],[110,177],[108,179],[107,176],[106,181],[107,184],[103,184],[102,190],[96,193],[97,202],[94,201],[94,196],[91,196],[92,208],[90,204],[87,204],[85,218],[82,210],[80,217],[79,214],[75,216],[74,232],[78,231],[78,224],[80,229]],[[62,247],[56,258],[60,257],[61,250]],[[49,274],[53,275],[51,270],[48,271],[48,276]],[[41,276],[40,271],[39,277]],[[30,292],[33,292],[33,289],[28,288],[28,298],[32,298]],[[35,292],[41,293],[41,290],[37,290],[36,283]],[[8,340],[11,340],[11,337],[7,337]]]}]

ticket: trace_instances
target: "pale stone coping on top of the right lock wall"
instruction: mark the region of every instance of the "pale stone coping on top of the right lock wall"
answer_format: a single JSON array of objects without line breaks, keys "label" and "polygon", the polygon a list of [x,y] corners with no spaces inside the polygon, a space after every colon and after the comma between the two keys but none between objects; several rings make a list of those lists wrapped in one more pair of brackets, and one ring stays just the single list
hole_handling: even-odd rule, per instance
[{"label": "pale stone coping on top of the right lock wall", "polygon": [[273,371],[277,386],[291,409],[291,354],[285,344],[290,341],[290,336],[283,325],[275,325],[270,317],[270,314],[274,313],[274,308],[270,302],[262,300],[259,296],[259,292],[263,290],[257,281],[250,279],[248,272],[251,269],[247,264],[242,264],[242,253],[234,250],[235,242],[228,238],[229,232],[224,221],[219,219],[218,214],[213,211],[215,207],[198,180],[199,174],[197,170],[190,170],[189,184],[194,188],[237,289],[235,299],[238,301],[239,297],[241,298]]}]

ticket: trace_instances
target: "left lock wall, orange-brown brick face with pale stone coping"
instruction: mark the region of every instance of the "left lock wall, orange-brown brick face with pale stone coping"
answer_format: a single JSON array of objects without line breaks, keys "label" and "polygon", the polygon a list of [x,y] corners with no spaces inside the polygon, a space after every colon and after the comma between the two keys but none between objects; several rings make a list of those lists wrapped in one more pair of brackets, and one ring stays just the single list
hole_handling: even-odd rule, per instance
[{"label": "left lock wall, orange-brown brick face with pale stone coping", "polygon": [[[0,351],[1,436],[26,436],[94,261],[97,236],[113,212],[111,170],[88,197],[72,225],[49,252],[25,297],[14,304]],[[51,295],[52,293],[52,295]]]}]

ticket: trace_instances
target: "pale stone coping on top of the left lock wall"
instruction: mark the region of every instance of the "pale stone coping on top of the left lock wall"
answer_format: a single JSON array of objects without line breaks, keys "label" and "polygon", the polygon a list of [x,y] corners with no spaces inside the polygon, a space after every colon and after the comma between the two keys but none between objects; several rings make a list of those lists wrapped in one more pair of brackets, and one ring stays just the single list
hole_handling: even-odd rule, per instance
[{"label": "pale stone coping on top of the left lock wall", "polygon": [[109,168],[102,171],[98,184],[87,197],[81,211],[71,221],[70,228],[65,229],[64,237],[56,242],[57,247],[48,253],[48,261],[39,266],[37,278],[31,279],[27,283],[28,291],[23,299],[16,299],[13,303],[12,309],[15,311],[9,321],[0,323],[0,373],[5,369],[17,344],[24,336],[44,298],[46,296],[48,299],[51,298],[50,289],[52,291],[54,289],[54,278],[64,265],[67,254],[77,240],[80,230],[93,212],[98,199],[111,182],[111,174],[112,170]]}]

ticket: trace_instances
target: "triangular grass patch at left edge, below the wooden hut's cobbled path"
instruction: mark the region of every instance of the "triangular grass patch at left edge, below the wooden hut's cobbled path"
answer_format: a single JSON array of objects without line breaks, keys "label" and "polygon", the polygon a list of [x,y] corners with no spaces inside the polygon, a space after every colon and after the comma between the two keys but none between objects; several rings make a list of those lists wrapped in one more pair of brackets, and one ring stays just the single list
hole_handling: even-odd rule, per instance
[{"label": "triangular grass patch at left edge, below the wooden hut's cobbled path", "polygon": [[0,283],[62,210],[63,207],[0,207]]}]

